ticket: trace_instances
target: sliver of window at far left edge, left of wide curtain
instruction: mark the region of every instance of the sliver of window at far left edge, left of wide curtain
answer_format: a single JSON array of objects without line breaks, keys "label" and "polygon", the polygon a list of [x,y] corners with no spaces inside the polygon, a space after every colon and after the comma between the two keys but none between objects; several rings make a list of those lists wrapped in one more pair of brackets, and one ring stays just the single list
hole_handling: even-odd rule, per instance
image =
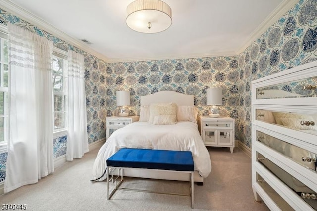
[{"label": "sliver of window at far left edge, left of wide curtain", "polygon": [[8,128],[8,41],[0,34],[0,144],[7,142]]}]

